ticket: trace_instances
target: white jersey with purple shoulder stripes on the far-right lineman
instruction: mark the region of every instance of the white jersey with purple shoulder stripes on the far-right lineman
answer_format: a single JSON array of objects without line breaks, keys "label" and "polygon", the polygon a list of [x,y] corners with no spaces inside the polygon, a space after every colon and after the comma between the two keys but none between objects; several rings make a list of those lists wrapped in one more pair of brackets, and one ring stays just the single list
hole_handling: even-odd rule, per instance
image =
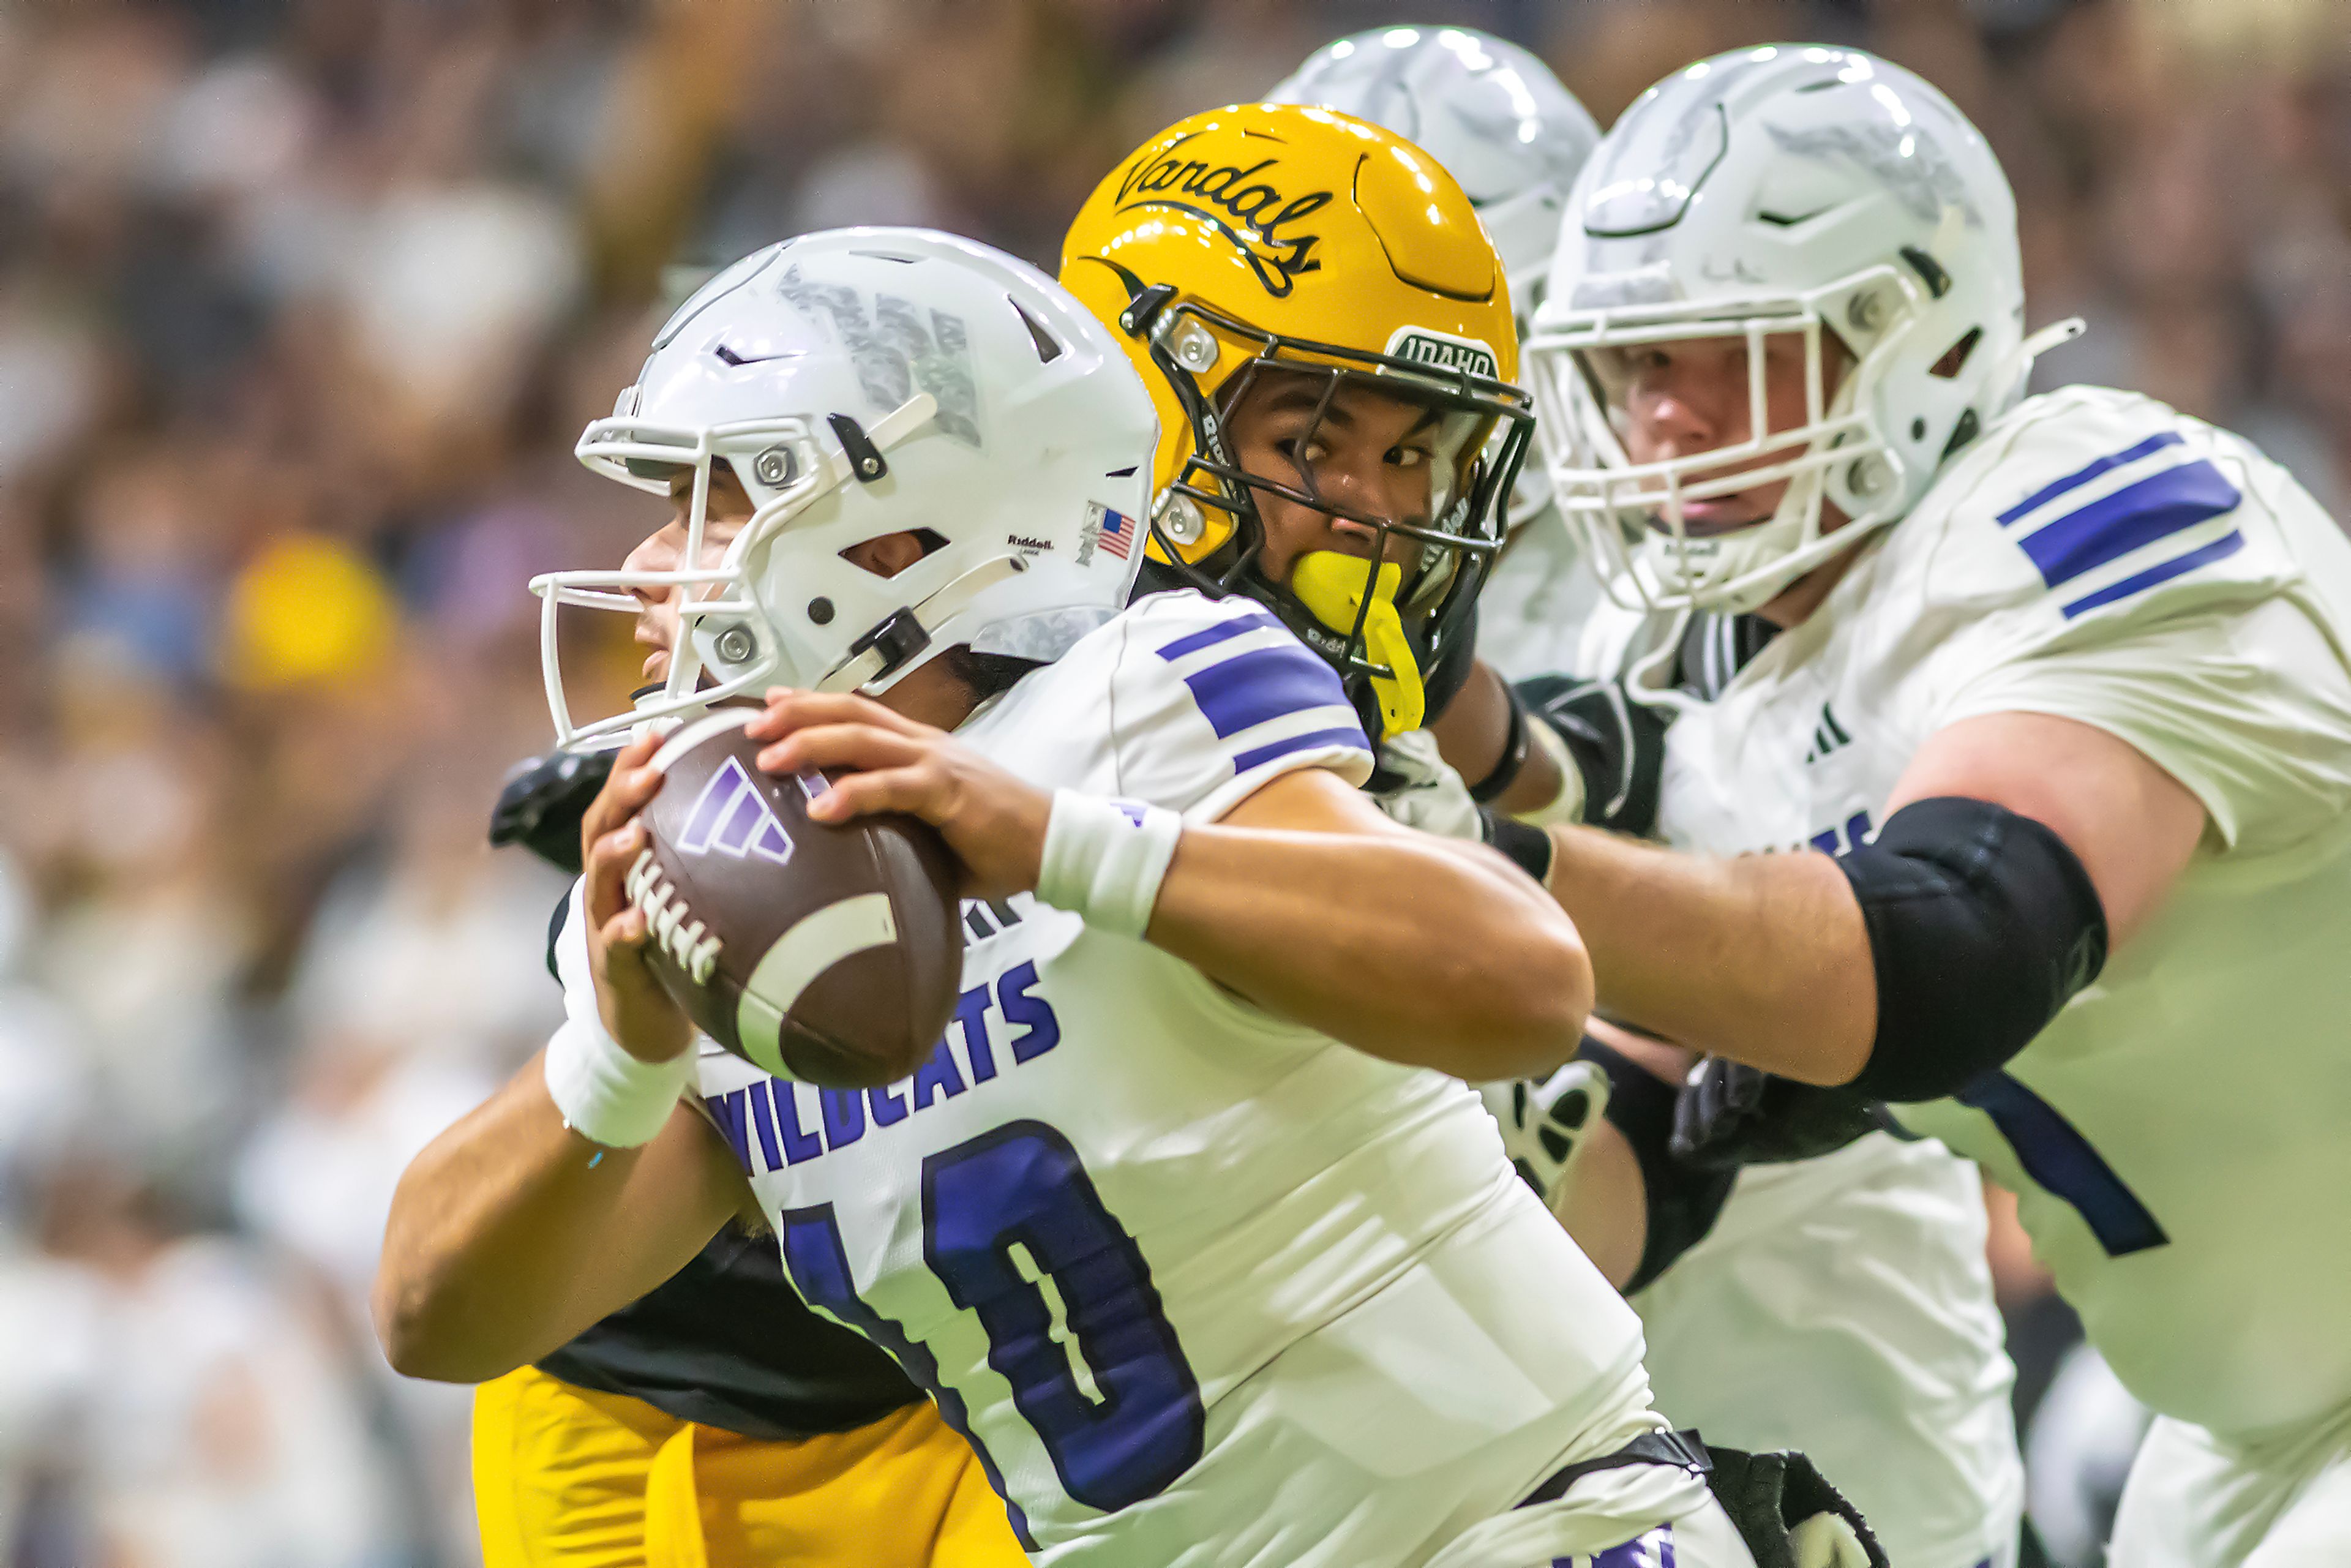
[{"label": "white jersey with purple shoulder stripes on the far-right lineman", "polygon": [[2020,1194],[2036,1255],[2156,1410],[2351,1401],[2351,543],[2241,437],[2067,388],[1669,731],[1674,844],[1874,835],[1921,743],[2048,712],[2205,806],[2168,905],[2003,1072],[1902,1107]]}]

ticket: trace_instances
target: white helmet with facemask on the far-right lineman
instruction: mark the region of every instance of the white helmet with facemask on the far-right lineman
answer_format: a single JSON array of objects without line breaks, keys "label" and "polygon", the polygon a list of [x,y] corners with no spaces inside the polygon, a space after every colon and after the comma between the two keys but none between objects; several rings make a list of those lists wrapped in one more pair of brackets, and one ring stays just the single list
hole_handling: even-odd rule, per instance
[{"label": "white helmet with facemask on the far-right lineman", "polygon": [[[2078,329],[2024,339],[2015,195],[1949,99],[1860,49],[1768,45],[1676,71],[1601,139],[1528,381],[1554,496],[1610,597],[1754,609],[1916,505],[2024,395],[2034,355]],[[1803,336],[1808,374],[1789,430],[1766,418],[1777,334]],[[1850,353],[1834,388],[1824,334]],[[1744,339],[1749,437],[1632,463],[1603,355],[1709,336]],[[1683,503],[1777,480],[1773,517],[1683,527]],[[1822,503],[1850,522],[1824,536]]]}]

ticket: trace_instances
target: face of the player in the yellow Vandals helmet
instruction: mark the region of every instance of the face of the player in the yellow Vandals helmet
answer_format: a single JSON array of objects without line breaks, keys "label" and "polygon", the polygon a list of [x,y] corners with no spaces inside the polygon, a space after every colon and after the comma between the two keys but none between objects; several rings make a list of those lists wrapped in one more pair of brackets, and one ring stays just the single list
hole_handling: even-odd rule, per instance
[{"label": "face of the player in the yellow Vandals helmet", "polygon": [[[1324,378],[1267,371],[1225,414],[1234,458],[1251,475],[1291,489],[1328,496],[1371,517],[1429,522],[1429,480],[1436,473],[1439,414],[1387,397],[1364,386],[1340,383],[1331,407],[1314,418]],[[1258,571],[1288,583],[1291,569],[1310,550],[1371,555],[1378,538],[1368,527],[1300,505],[1272,491],[1255,491],[1265,522]],[[1420,543],[1389,536],[1387,559],[1411,562]]]}]

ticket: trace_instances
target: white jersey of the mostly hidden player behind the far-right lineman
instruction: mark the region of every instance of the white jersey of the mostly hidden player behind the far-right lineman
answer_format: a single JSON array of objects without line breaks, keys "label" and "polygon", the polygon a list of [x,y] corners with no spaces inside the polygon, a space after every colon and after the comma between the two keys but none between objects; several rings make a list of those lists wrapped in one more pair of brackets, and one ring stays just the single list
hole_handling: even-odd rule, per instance
[{"label": "white jersey of the mostly hidden player behind the far-right lineman", "polygon": [[[1627,675],[1646,651],[1639,630],[1639,616],[1601,607],[1580,649],[1500,668]],[[1714,642],[1695,656],[1707,689],[1737,668]],[[1667,731],[1669,757],[1690,722]],[[1660,835],[1690,846],[1686,818],[1707,820],[1716,792],[1690,797],[1686,778],[1681,764],[1667,778]],[[1669,1420],[1737,1448],[1801,1448],[1904,1568],[2012,1561],[2024,1514],[2015,1366],[1972,1164],[1933,1140],[1869,1135],[1822,1159],[1749,1166],[1714,1227],[1632,1305]]]}]

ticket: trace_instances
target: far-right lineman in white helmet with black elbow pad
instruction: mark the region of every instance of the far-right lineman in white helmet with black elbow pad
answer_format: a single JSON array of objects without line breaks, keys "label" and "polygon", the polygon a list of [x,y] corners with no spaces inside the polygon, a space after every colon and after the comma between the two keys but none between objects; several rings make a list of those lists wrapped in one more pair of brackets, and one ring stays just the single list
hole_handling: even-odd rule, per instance
[{"label": "far-right lineman in white helmet with black elbow pad", "polygon": [[2351,543],[2238,435],[2027,400],[2076,329],[2027,336],[2008,181],[1909,71],[1742,49],[1625,113],[1531,343],[1627,604],[1587,668],[1784,630],[1665,733],[1672,849],[1556,827],[1552,886],[1603,1009],[2020,1194],[2161,1413],[2111,1561],[2351,1561]]}]

